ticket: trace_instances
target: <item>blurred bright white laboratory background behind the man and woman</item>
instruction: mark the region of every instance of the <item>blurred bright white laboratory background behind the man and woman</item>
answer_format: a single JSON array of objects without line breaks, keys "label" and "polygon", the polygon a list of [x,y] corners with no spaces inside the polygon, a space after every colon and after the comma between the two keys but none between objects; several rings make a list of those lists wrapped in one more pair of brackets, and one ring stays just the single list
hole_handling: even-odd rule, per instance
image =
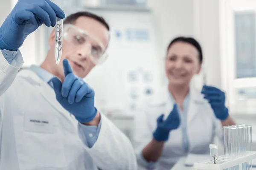
[{"label": "blurred bright white laboratory background behind the man and woman", "polygon": [[[207,85],[226,92],[237,123],[256,127],[255,0],[52,0],[66,13],[92,11],[111,26],[109,58],[86,77],[96,106],[133,141],[140,102],[166,83],[164,57],[172,38],[195,37],[203,47]],[[0,24],[17,0],[0,0]],[[20,51],[24,67],[44,60],[53,28],[40,27]],[[202,75],[193,83],[200,89]],[[253,129],[256,149],[256,129]]]}]

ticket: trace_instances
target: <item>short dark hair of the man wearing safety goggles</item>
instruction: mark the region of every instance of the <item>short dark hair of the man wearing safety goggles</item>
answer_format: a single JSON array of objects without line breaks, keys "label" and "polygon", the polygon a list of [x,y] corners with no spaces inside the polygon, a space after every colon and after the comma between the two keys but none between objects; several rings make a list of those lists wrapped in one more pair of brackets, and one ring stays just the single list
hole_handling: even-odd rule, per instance
[{"label": "short dark hair of the man wearing safety goggles", "polygon": [[108,31],[110,29],[108,23],[105,21],[103,17],[100,17],[96,14],[93,14],[87,11],[80,11],[80,12],[76,12],[74,14],[69,15],[68,17],[65,18],[65,20],[63,21],[63,24],[73,24],[79,17],[93,18],[94,20],[97,20],[100,23],[102,23],[108,29]]}]

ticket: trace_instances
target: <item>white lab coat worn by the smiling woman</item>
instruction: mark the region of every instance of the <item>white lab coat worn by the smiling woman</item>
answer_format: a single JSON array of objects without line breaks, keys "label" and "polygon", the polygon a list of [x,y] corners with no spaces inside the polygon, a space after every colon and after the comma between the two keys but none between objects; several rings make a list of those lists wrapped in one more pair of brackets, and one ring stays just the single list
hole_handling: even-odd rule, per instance
[{"label": "white lab coat worn by the smiling woman", "polygon": [[[169,91],[163,88],[144,105],[144,111],[135,117],[135,151],[137,158],[143,148],[153,138],[153,132],[157,127],[157,118],[164,113],[164,119],[172,111],[172,102]],[[189,153],[209,153],[209,144],[213,143],[214,136],[223,139],[221,122],[215,118],[214,112],[204,99],[200,91],[190,88],[189,109],[186,122],[187,136],[189,139]],[[186,156],[183,149],[181,126],[172,130],[169,140],[165,142],[163,153],[157,162],[157,170],[170,170],[170,168],[182,156]],[[140,160],[138,160],[140,162]]]}]

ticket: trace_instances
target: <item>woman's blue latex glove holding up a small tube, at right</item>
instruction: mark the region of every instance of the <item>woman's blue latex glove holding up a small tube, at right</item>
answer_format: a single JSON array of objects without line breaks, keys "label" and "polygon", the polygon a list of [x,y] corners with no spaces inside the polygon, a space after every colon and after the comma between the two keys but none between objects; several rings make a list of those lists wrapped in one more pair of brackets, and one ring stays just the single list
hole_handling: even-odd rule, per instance
[{"label": "woman's blue latex glove holding up a small tube, at right", "polygon": [[218,88],[204,85],[202,94],[204,99],[207,99],[211,105],[215,116],[221,121],[228,117],[228,109],[225,107],[225,93]]}]

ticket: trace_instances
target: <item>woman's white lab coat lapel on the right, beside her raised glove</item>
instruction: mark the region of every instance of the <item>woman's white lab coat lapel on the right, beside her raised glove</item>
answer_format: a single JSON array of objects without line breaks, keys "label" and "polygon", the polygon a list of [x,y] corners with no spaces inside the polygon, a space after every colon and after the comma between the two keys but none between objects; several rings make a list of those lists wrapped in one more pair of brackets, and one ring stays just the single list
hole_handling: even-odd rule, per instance
[{"label": "woman's white lab coat lapel on the right, beside her raised glove", "polygon": [[189,100],[189,109],[187,113],[187,125],[189,125],[189,123],[193,121],[196,114],[198,114],[200,105],[204,103],[205,103],[205,100],[202,94],[194,87],[190,87],[190,100]]}]

